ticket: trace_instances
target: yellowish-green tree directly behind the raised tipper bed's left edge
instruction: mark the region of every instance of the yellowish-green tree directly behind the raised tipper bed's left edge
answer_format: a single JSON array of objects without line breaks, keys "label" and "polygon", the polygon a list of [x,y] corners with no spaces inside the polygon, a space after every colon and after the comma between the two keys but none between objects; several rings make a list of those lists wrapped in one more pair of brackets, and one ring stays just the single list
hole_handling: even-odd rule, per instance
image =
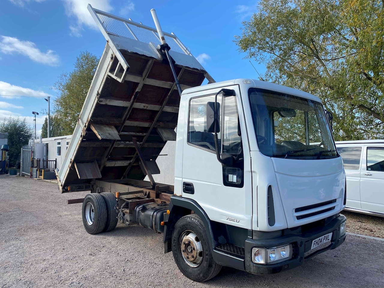
[{"label": "yellowish-green tree directly behind the raised tipper bed's left edge", "polygon": [[54,113],[61,135],[73,133],[98,61],[98,57],[92,53],[81,52],[76,58],[74,70],[69,74],[61,74],[53,85],[59,91],[58,97],[54,101]]}]

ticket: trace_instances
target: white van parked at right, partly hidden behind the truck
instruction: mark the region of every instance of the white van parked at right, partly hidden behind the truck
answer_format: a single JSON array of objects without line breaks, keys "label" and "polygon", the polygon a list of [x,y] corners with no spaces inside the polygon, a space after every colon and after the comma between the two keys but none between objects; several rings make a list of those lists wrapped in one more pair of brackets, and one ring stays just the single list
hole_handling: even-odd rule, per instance
[{"label": "white van parked at right, partly hidden behind the truck", "polygon": [[335,143],[347,178],[345,210],[384,217],[384,140]]}]

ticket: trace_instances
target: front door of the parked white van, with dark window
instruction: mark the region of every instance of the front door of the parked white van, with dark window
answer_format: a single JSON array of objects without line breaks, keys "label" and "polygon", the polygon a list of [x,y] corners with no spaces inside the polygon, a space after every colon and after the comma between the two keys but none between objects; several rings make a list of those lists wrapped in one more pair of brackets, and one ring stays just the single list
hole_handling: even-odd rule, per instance
[{"label": "front door of the parked white van, with dark window", "polygon": [[364,147],[360,197],[361,209],[384,214],[384,147]]}]

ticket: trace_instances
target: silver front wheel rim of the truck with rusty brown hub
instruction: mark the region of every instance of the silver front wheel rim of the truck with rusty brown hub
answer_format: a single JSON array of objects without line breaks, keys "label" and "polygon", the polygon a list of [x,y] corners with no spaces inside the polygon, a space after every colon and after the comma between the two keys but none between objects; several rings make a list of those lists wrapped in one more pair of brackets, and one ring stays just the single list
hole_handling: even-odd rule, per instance
[{"label": "silver front wheel rim of the truck with rusty brown hub", "polygon": [[192,231],[185,231],[180,237],[180,251],[185,263],[197,267],[203,261],[203,246],[199,237]]}]

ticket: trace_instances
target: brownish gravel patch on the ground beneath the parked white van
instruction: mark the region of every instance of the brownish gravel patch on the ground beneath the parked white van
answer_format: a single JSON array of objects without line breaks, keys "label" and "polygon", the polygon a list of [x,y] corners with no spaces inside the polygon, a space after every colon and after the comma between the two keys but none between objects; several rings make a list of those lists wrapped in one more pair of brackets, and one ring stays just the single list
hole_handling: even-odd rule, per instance
[{"label": "brownish gravel patch on the ground beneath the parked white van", "polygon": [[384,217],[348,211],[343,211],[342,214],[347,217],[347,232],[384,238]]}]

